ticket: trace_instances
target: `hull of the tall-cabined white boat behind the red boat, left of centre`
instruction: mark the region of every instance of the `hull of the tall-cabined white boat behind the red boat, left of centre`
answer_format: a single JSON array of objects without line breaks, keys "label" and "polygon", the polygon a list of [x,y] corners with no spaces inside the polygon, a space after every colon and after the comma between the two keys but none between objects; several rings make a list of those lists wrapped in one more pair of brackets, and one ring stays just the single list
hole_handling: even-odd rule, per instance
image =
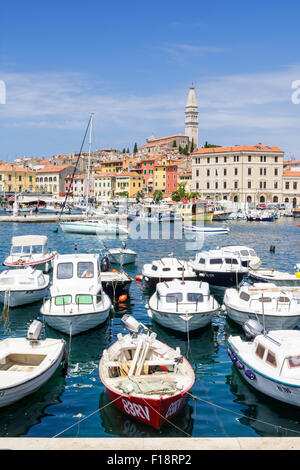
[{"label": "hull of the tall-cabined white boat behind the red boat, left of centre", "polygon": [[72,336],[100,326],[107,320],[109,313],[110,307],[101,312],[81,313],[78,315],[47,314],[41,308],[41,314],[51,328]]}]

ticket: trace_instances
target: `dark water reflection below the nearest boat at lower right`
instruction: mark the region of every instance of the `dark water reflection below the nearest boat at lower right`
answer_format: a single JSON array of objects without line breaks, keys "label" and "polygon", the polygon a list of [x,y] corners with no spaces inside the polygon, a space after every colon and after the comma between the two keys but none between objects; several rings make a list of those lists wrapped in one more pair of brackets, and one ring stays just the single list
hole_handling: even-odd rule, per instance
[{"label": "dark water reflection below the nearest boat at lower right", "polygon": [[[240,405],[238,422],[251,427],[261,437],[297,437],[300,433],[300,412],[295,407],[270,400],[253,389],[232,366],[227,376],[230,391]],[[235,408],[235,413],[237,412]],[[245,435],[249,435],[248,432]]]}]

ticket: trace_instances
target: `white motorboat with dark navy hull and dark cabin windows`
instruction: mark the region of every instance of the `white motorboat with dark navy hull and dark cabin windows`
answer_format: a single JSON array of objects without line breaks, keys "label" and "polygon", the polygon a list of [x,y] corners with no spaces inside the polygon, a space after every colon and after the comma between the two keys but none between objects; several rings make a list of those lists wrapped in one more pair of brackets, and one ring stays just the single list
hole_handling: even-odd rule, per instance
[{"label": "white motorboat with dark navy hull and dark cabin windows", "polygon": [[201,251],[189,261],[189,265],[199,279],[221,287],[237,286],[249,269],[242,265],[239,256],[226,251],[226,248]]}]

